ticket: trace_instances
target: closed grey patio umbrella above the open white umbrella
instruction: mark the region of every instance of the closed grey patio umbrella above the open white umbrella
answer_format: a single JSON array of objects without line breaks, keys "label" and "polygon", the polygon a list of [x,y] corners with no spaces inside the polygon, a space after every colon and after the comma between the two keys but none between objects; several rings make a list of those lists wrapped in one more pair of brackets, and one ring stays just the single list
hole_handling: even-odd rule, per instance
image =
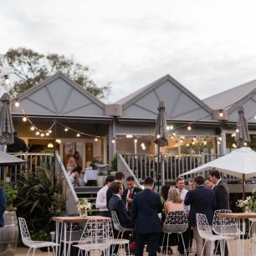
[{"label": "closed grey patio umbrella above the open white umbrella", "polygon": [[243,106],[238,109],[238,132],[236,133],[235,141],[238,147],[244,146],[244,142],[249,142],[250,136],[248,133],[248,123],[244,117]]}]

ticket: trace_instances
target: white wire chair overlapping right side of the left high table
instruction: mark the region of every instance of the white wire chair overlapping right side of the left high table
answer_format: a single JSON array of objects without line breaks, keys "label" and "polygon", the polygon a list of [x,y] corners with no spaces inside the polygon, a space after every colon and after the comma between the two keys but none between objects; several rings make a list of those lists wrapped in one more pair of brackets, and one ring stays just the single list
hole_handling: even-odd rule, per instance
[{"label": "white wire chair overlapping right side of the left high table", "polygon": [[111,223],[109,220],[88,220],[78,244],[73,245],[79,248],[79,253],[85,251],[85,256],[91,250],[101,250],[108,255],[111,245]]}]

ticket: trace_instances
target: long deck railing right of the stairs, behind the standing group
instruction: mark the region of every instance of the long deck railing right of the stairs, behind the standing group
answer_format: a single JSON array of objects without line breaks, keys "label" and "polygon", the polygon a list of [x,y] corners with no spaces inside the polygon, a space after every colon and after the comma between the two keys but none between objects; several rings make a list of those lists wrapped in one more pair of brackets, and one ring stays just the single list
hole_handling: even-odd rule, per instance
[{"label": "long deck railing right of the stairs, behind the standing group", "polygon": [[[139,154],[122,154],[118,157],[118,170],[121,172],[131,173],[142,183],[146,177],[153,177],[157,181],[157,173],[161,185],[174,185],[176,178],[184,172],[188,172],[197,166],[217,159],[221,155],[139,155]],[[158,160],[159,159],[159,160]],[[120,169],[121,168],[121,169]],[[207,176],[207,173],[206,173]],[[188,181],[195,175],[185,176]],[[227,182],[238,182],[236,177],[224,175]]]}]

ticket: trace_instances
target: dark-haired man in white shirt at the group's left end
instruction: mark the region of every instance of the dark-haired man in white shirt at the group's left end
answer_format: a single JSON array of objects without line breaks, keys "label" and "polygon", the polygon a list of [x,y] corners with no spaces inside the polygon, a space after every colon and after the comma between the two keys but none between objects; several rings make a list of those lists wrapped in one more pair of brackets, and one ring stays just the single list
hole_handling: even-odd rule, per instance
[{"label": "dark-haired man in white shirt at the group's left end", "polygon": [[100,188],[97,192],[96,208],[100,209],[100,216],[110,217],[110,211],[106,206],[106,192],[110,185],[114,182],[114,176],[110,175],[105,179],[105,187]]}]

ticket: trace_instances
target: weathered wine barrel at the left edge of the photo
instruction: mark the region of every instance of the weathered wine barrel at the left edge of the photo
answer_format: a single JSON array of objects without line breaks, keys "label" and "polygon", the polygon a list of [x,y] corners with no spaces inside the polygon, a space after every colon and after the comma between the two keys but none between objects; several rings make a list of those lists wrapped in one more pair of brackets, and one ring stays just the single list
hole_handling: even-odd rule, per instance
[{"label": "weathered wine barrel at the left edge of the photo", "polygon": [[16,212],[3,213],[4,227],[0,228],[0,255],[13,256],[18,243],[18,221]]}]

